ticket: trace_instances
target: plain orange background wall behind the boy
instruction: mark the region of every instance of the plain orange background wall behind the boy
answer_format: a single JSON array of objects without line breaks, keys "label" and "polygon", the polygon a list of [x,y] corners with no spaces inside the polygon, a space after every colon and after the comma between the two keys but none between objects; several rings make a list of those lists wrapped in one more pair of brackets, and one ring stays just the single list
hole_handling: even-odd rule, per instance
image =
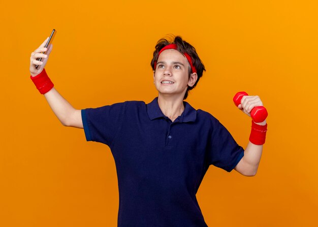
[{"label": "plain orange background wall behind the boy", "polygon": [[0,226],[116,226],[109,148],[63,127],[29,79],[29,56],[57,30],[47,72],[78,109],[156,96],[150,60],[167,34],[193,44],[207,72],[187,99],[245,147],[269,111],[259,172],[210,167],[197,194],[209,226],[317,226],[316,1],[6,1],[1,3]]}]

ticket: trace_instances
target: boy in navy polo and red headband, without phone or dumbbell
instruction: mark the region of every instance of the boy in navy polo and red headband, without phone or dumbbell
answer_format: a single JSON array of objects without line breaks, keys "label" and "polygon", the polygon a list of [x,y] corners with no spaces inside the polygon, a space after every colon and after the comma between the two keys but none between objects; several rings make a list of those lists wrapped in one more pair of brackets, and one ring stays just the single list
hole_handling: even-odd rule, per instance
[{"label": "boy in navy polo and red headband, without phone or dumbbell", "polygon": [[[46,41],[31,54],[31,79],[63,125],[84,128],[87,141],[110,147],[118,176],[118,226],[207,226],[196,193],[209,166],[256,174],[266,121],[252,122],[244,151],[211,114],[184,102],[205,68],[180,37],[162,39],[155,47],[151,67],[158,96],[151,103],[85,110],[74,109],[47,77],[52,47],[46,50]],[[244,96],[238,108],[250,116],[256,106],[263,106],[258,96]]]}]

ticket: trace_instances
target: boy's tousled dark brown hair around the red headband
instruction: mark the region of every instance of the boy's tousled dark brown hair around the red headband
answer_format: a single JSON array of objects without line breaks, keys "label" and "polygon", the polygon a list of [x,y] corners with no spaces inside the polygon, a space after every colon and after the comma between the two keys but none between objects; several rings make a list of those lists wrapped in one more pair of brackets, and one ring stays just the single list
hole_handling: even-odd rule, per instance
[{"label": "boy's tousled dark brown hair around the red headband", "polygon": [[[155,45],[155,51],[153,52],[153,57],[151,59],[150,64],[151,64],[152,70],[155,71],[154,62],[156,62],[158,60],[158,54],[159,54],[160,50],[162,48],[164,48],[165,46],[172,44],[172,43],[177,45],[177,50],[180,53],[182,53],[182,54],[187,53],[188,55],[190,55],[192,57],[193,66],[197,69],[198,79],[192,87],[188,86],[188,88],[184,94],[184,97],[183,97],[183,100],[185,100],[188,96],[189,90],[192,90],[193,88],[196,87],[197,83],[199,82],[200,78],[203,75],[203,71],[205,71],[205,68],[204,68],[203,63],[197,54],[196,49],[192,45],[190,45],[189,43],[182,40],[182,38],[180,36],[176,36],[176,37],[170,36],[170,37],[168,37],[168,39],[160,39],[157,42],[157,44]],[[192,70],[191,70],[191,67],[189,67],[189,77],[191,74],[192,74]]]}]

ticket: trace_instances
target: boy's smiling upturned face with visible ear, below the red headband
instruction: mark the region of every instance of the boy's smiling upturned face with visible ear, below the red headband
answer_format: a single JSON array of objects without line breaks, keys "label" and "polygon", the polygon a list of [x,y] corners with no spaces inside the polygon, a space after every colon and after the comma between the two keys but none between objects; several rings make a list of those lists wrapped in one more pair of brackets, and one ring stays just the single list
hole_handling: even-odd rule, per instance
[{"label": "boy's smiling upturned face with visible ear, below the red headband", "polygon": [[153,81],[158,95],[183,96],[187,87],[192,87],[197,74],[189,77],[190,64],[186,57],[174,49],[164,50],[158,57]]}]

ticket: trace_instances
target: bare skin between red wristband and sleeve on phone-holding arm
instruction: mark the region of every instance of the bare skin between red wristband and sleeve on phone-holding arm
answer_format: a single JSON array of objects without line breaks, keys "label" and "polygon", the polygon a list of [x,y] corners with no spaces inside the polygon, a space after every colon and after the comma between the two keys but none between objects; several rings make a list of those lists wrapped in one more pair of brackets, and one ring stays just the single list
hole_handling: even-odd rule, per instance
[{"label": "bare skin between red wristband and sleeve on phone-holding arm", "polygon": [[63,125],[83,128],[82,121],[79,119],[81,117],[80,110],[76,110],[54,87],[44,96]]}]

